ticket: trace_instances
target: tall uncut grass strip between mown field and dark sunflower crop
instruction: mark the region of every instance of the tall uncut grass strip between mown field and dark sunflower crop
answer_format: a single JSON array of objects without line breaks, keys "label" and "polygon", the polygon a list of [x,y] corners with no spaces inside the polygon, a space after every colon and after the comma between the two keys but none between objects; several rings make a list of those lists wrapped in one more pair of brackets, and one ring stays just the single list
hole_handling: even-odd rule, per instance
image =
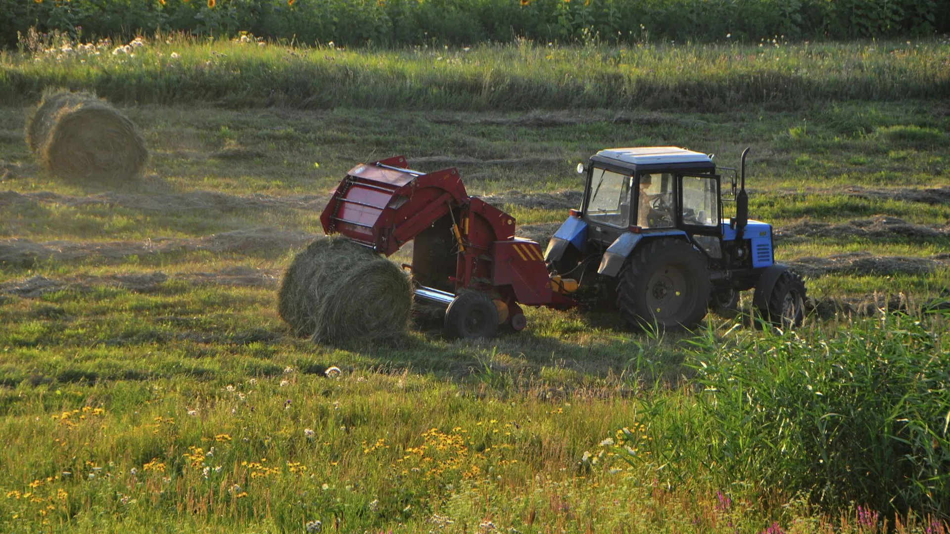
[{"label": "tall uncut grass strip between mown field and dark sunflower crop", "polygon": [[197,39],[141,47],[47,43],[0,55],[0,102],[49,86],[113,102],[299,108],[778,109],[950,96],[950,45],[513,46],[351,51]]}]

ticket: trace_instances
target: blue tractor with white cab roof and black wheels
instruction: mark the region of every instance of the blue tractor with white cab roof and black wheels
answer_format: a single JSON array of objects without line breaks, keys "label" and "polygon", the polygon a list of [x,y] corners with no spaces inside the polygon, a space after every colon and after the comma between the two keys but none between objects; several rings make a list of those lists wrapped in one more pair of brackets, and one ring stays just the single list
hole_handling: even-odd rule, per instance
[{"label": "blue tractor with white cab roof and black wheels", "polygon": [[741,178],[720,167],[731,175],[724,198],[712,155],[675,146],[599,151],[578,165],[580,209],[548,243],[549,270],[577,279],[579,297],[616,302],[639,328],[692,329],[710,309],[735,310],[750,289],[767,320],[800,325],[805,284],[775,263],[771,225],[749,219],[748,153]]}]

